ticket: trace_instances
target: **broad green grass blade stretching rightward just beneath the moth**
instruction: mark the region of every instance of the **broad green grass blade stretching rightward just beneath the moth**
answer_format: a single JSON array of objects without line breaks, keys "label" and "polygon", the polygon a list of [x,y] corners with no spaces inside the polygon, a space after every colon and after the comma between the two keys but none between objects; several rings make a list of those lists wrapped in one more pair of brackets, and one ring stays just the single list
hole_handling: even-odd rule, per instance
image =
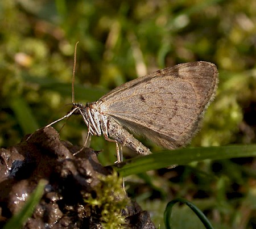
[{"label": "broad green grass blade stretching rightward just beneath the moth", "polygon": [[220,147],[198,147],[177,150],[164,150],[159,153],[138,156],[123,163],[114,164],[121,176],[129,176],[171,165],[184,165],[201,160],[222,160],[256,156],[256,145],[233,145]]}]

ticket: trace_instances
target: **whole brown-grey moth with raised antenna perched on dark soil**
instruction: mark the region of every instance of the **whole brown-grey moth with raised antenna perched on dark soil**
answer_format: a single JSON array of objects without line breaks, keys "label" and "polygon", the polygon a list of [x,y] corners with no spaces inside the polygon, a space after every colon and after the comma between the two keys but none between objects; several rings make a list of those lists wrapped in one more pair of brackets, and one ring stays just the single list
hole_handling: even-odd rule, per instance
[{"label": "whole brown-grey moth with raised antenna perched on dark soil", "polygon": [[117,162],[122,161],[118,144],[141,155],[151,153],[133,132],[176,149],[187,145],[199,130],[217,84],[213,63],[181,63],[122,84],[93,103],[75,103],[72,96],[71,111],[46,128],[72,114],[81,115],[88,128],[85,142],[91,135],[104,135],[115,142]]}]

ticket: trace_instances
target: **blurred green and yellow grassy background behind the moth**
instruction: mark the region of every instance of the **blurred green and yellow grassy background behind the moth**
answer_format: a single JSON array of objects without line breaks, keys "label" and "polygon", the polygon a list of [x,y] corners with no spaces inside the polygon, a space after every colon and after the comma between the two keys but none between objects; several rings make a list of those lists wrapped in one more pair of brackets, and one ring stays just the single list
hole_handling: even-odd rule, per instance
[{"label": "blurred green and yellow grassy background behind the moth", "polygon": [[[69,111],[77,41],[76,101],[95,101],[166,66],[210,61],[220,84],[192,146],[255,143],[255,24],[254,0],[2,0],[0,145],[12,146]],[[62,139],[83,145],[81,117],[54,127]],[[104,149],[103,163],[114,162],[114,144],[94,137],[92,147]],[[131,177],[129,194],[152,211],[156,225],[163,226],[167,200],[181,196],[198,203],[218,228],[250,228],[256,223],[254,169],[252,158],[163,169]],[[186,217],[176,215],[181,227],[199,228],[187,209],[179,212]]]}]

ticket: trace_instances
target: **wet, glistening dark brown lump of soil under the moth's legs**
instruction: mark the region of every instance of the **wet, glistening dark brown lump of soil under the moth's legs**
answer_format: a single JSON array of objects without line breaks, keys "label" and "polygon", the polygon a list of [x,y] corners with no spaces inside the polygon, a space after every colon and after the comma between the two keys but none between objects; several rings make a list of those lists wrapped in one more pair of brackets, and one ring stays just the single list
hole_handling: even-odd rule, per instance
[{"label": "wet, glistening dark brown lump of soil under the moth's legs", "polygon": [[[86,201],[98,198],[99,187],[105,190],[101,177],[113,173],[111,167],[98,162],[97,154],[93,149],[61,141],[52,127],[39,129],[18,145],[1,149],[0,227],[22,209],[39,180],[44,179],[47,185],[43,197],[23,228],[104,228],[108,218],[108,213],[102,217],[104,204],[94,206]],[[117,202],[126,198],[126,206],[118,209],[125,222],[120,228],[155,228],[149,213],[126,194],[113,190],[113,196]]]}]

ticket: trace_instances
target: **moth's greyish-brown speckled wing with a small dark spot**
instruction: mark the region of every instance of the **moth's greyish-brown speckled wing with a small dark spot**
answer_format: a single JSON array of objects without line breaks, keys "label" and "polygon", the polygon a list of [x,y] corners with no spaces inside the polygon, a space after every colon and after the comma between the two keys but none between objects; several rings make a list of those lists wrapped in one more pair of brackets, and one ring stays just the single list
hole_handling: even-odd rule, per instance
[{"label": "moth's greyish-brown speckled wing with a small dark spot", "polygon": [[125,128],[175,149],[196,134],[217,83],[213,63],[182,63],[131,80],[97,103],[105,115]]}]

